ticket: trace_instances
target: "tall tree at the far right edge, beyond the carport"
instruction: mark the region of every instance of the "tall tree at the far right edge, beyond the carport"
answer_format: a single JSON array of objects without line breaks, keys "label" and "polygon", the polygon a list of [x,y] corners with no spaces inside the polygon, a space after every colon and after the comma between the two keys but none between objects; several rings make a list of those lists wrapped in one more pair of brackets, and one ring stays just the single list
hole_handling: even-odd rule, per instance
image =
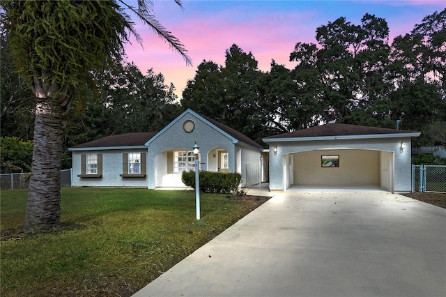
[{"label": "tall tree at the far right edge, beyond the carport", "polygon": [[[404,129],[421,130],[419,145],[446,144],[446,9],[392,43],[387,77],[392,82],[387,109]],[[443,129],[443,130],[442,130]]]}]

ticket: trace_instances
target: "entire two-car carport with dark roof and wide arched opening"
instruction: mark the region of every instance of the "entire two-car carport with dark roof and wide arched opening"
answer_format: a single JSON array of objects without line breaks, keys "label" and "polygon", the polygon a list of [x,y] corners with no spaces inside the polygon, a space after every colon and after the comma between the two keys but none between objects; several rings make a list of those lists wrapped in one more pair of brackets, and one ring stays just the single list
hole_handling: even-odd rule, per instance
[{"label": "entire two-car carport with dark roof and wide arched opening", "polygon": [[270,190],[376,187],[410,192],[411,138],[420,132],[328,123],[263,139]]}]

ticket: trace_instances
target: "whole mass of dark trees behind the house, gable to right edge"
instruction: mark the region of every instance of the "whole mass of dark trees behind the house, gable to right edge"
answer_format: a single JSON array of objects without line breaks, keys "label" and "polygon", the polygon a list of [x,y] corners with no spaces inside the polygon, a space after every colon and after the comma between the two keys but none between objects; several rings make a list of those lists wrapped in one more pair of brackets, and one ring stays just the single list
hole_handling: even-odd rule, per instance
[{"label": "whole mass of dark trees behind the house, gable to right edge", "polygon": [[[392,44],[385,19],[366,13],[319,26],[316,43],[296,43],[289,70],[272,60],[257,68],[238,45],[224,66],[203,61],[181,104],[245,133],[262,137],[326,122],[421,130],[417,144],[445,144],[446,10],[433,13]],[[443,137],[443,138],[442,138]]]}]

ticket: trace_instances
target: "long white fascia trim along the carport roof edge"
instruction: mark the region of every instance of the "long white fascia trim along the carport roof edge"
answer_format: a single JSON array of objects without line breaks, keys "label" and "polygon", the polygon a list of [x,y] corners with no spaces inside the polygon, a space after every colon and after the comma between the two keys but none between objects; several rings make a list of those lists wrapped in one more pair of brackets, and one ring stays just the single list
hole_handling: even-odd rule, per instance
[{"label": "long white fascia trim along the carport roof edge", "polygon": [[263,138],[263,142],[312,142],[318,140],[344,140],[344,139],[377,139],[377,138],[401,138],[419,137],[421,132],[392,133],[392,134],[367,134],[367,135],[337,135],[337,136],[316,136],[316,137],[282,137]]}]

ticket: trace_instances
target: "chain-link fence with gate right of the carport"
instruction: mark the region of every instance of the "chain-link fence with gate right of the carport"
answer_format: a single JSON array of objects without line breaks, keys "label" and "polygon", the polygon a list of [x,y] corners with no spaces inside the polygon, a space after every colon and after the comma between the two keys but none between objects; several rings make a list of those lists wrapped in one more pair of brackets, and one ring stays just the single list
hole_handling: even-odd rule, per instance
[{"label": "chain-link fence with gate right of the carport", "polygon": [[412,192],[446,193],[446,165],[412,165]]}]

